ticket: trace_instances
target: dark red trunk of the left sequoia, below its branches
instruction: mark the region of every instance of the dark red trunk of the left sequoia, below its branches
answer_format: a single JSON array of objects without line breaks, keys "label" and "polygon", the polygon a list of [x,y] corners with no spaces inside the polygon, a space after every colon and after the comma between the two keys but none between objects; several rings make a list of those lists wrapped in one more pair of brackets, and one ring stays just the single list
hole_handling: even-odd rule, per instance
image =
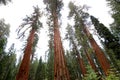
[{"label": "dark red trunk of the left sequoia, below its branches", "polygon": [[32,44],[34,41],[34,34],[35,34],[35,29],[32,29],[28,37],[27,46],[24,51],[23,60],[20,65],[19,72],[16,76],[16,80],[28,80],[30,56],[32,53]]}]

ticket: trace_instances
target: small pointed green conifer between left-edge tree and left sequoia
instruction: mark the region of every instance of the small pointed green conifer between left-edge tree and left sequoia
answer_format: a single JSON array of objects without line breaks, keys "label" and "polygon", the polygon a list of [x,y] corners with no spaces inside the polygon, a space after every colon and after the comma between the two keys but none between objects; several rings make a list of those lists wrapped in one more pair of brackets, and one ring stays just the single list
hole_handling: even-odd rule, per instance
[{"label": "small pointed green conifer between left-edge tree and left sequoia", "polygon": [[16,76],[16,54],[14,44],[11,45],[8,52],[8,60],[6,65],[6,73],[3,80],[15,80]]}]

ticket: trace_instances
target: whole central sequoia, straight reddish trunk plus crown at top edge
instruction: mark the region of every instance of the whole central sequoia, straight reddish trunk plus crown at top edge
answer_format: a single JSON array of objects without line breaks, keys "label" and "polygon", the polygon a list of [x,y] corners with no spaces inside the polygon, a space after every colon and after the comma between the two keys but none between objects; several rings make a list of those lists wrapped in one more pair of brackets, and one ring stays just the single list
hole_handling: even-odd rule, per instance
[{"label": "whole central sequoia, straight reddish trunk plus crown at top edge", "polygon": [[47,6],[47,11],[52,16],[54,26],[54,80],[70,80],[65,63],[58,22],[63,3],[61,0],[44,0],[44,3]]}]

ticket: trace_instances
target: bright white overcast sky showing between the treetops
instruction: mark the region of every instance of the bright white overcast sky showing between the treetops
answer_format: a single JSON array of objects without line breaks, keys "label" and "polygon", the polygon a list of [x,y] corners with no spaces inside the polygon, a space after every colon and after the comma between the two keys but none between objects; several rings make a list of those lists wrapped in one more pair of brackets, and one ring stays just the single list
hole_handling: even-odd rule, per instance
[{"label": "bright white overcast sky showing between the treetops", "polygon": [[[9,43],[8,43],[8,47],[10,47],[10,45],[12,43],[15,43],[15,47],[17,48],[17,51],[20,50],[22,44],[20,43],[20,40],[16,39],[17,35],[15,30],[18,28],[18,26],[22,23],[22,19],[25,18],[26,15],[30,15],[33,12],[33,6],[38,5],[41,10],[44,10],[44,4],[42,2],[43,0],[12,0],[12,3],[9,3],[7,6],[0,6],[0,19],[4,18],[6,23],[9,23],[11,25],[10,28],[10,38],[9,38]],[[64,1],[64,8],[62,10],[62,29],[61,33],[65,33],[65,27],[67,26],[67,16],[68,16],[68,2],[70,0],[63,0]],[[91,8],[89,9],[89,13],[94,15],[95,17],[99,18],[99,20],[104,23],[106,26],[109,26],[110,23],[112,23],[112,19],[110,17],[110,15],[108,14],[109,12],[109,8],[107,7],[107,4],[105,2],[105,0],[71,0],[71,1],[77,1],[76,4],[80,5],[80,4],[87,4],[88,6],[90,6]],[[42,18],[42,22],[45,22],[46,19]],[[38,49],[37,49],[37,55],[38,58],[42,55],[45,55],[45,51],[47,50],[47,45],[48,45],[48,37],[47,35],[47,26],[44,23],[43,24],[43,29],[41,29],[40,31],[40,38],[39,38],[39,43],[38,43]],[[62,34],[62,35],[63,35]],[[67,42],[65,42],[67,43]],[[16,53],[20,53],[20,52],[16,52]],[[18,56],[19,56],[18,55]]]}]

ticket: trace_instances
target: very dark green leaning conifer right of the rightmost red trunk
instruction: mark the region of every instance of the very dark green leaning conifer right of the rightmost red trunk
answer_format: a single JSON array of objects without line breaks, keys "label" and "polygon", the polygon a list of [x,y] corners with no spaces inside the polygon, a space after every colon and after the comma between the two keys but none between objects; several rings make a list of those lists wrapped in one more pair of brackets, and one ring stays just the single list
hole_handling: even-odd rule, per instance
[{"label": "very dark green leaning conifer right of the rightmost red trunk", "polygon": [[120,44],[118,40],[109,31],[109,29],[104,26],[104,24],[98,21],[97,18],[95,18],[94,16],[91,16],[91,20],[93,25],[95,26],[95,29],[98,35],[101,37],[101,42],[104,48],[107,49],[106,53],[108,53],[108,55],[110,56],[110,59],[114,64],[114,66],[117,68],[117,70],[120,71],[120,65],[118,64],[118,61],[117,61],[120,59]]}]

